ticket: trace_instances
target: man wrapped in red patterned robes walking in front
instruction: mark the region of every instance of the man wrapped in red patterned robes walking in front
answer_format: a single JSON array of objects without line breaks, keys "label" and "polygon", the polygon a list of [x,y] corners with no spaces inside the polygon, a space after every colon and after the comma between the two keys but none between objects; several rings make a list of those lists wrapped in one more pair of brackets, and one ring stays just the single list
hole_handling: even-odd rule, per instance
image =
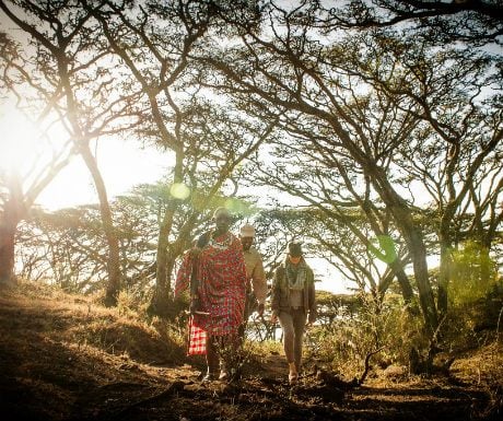
[{"label": "man wrapped in red patterned robes walking in front", "polygon": [[202,234],[185,255],[175,285],[178,296],[190,284],[190,329],[206,337],[195,352],[206,354],[208,370],[203,381],[232,379],[237,370],[234,365],[247,283],[241,241],[229,231],[231,214],[218,208],[213,221],[214,229]]}]

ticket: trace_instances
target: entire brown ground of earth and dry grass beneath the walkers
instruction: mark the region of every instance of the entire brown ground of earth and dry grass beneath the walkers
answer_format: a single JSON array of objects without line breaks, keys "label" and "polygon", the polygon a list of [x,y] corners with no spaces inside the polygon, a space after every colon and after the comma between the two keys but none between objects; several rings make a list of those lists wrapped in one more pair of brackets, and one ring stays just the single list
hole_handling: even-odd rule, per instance
[{"label": "entire brown ground of earth and dry grass beneath the walkers", "polygon": [[295,388],[282,355],[255,355],[241,381],[206,384],[202,360],[167,335],[33,284],[0,290],[0,335],[2,420],[502,419],[501,384],[483,382],[492,354],[449,376],[381,374],[356,387],[308,372]]}]

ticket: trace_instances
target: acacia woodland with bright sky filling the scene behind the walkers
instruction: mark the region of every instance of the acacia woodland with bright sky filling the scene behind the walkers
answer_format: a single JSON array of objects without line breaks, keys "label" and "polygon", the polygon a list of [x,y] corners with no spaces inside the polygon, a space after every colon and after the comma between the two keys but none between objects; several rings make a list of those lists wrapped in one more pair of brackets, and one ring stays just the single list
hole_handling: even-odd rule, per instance
[{"label": "acacia woodland with bright sky filling the scene behind the walkers", "polygon": [[[431,374],[501,347],[502,15],[498,0],[0,0],[0,95],[40,130],[33,162],[0,167],[0,283],[177,320],[179,258],[226,206],[269,277],[296,238],[353,285],[318,294],[309,347],[334,370]],[[171,171],[109,197],[94,149],[117,138]],[[74,157],[96,203],[37,206]]]}]

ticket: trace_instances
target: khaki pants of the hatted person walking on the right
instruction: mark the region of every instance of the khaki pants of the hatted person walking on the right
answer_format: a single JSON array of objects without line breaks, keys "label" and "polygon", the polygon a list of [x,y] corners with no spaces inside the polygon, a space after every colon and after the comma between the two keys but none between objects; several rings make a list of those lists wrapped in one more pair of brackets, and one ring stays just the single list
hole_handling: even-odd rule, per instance
[{"label": "khaki pants of the hatted person walking on the right", "polygon": [[290,312],[280,312],[278,315],[281,328],[283,329],[283,349],[289,363],[295,363],[297,372],[301,372],[302,341],[307,315],[304,307]]}]

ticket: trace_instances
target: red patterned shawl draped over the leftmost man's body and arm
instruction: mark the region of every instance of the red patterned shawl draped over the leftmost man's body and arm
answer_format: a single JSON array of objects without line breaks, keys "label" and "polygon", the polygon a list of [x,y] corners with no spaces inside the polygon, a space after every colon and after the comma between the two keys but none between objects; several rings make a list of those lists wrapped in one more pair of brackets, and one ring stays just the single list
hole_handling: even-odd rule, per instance
[{"label": "red patterned shawl draped over the leftmost man's body and arm", "polygon": [[[175,296],[188,288],[192,269],[190,253],[178,270]],[[246,267],[243,246],[232,233],[211,238],[197,262],[199,309],[208,315],[194,315],[194,325],[209,336],[236,335],[243,323],[246,299]]]}]

